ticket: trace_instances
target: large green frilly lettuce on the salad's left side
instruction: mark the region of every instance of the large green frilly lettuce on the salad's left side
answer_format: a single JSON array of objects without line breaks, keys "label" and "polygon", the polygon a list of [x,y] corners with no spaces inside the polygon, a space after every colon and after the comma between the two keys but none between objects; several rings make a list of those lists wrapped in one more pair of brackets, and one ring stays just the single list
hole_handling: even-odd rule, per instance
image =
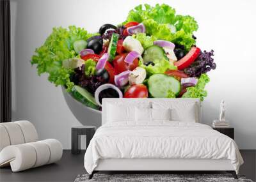
[{"label": "large green frilly lettuce on the salad's left side", "polygon": [[71,91],[74,86],[70,82],[71,68],[63,68],[62,61],[72,57],[78,57],[74,50],[76,40],[87,40],[93,34],[88,34],[86,30],[70,26],[68,29],[63,27],[54,28],[51,35],[47,38],[44,45],[35,50],[36,54],[32,57],[31,64],[37,64],[38,75],[49,73],[48,80],[56,86],[67,86],[67,91]]}]

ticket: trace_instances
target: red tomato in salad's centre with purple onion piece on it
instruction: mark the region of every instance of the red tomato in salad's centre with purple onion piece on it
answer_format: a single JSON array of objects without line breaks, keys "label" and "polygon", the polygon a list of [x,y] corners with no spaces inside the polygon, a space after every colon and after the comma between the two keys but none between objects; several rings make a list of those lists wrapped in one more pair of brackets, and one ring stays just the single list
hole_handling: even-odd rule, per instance
[{"label": "red tomato in salad's centre with purple onion piece on it", "polygon": [[119,74],[122,72],[125,72],[127,70],[134,70],[136,67],[139,65],[139,60],[136,58],[134,59],[132,64],[128,64],[124,62],[125,57],[127,56],[128,53],[120,54],[115,57],[113,60],[113,65],[115,68],[115,73]]}]

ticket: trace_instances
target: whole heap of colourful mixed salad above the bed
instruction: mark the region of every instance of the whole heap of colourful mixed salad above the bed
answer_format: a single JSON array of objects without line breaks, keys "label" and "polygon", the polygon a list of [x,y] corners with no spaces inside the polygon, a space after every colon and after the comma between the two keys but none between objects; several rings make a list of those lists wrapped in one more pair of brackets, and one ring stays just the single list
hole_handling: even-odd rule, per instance
[{"label": "whole heap of colourful mixed salad above the bed", "polygon": [[196,47],[197,29],[193,17],[166,4],[139,5],[124,22],[104,24],[97,33],[54,28],[31,64],[93,109],[100,110],[102,98],[204,100],[206,73],[216,63],[213,50]]}]

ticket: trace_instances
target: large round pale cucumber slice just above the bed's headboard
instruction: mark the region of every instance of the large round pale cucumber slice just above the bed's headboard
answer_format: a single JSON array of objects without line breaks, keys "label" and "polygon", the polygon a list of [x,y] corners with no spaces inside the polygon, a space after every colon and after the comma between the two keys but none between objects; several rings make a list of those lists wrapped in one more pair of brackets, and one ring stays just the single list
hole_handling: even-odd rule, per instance
[{"label": "large round pale cucumber slice just above the bed's headboard", "polygon": [[155,74],[148,79],[148,91],[154,98],[171,98],[180,93],[180,82],[164,74]]}]

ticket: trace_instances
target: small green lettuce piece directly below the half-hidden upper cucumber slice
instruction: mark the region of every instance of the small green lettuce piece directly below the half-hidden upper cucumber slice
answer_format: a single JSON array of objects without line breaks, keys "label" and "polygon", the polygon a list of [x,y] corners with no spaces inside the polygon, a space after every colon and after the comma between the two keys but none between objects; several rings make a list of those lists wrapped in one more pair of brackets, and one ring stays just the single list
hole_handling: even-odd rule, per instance
[{"label": "small green lettuce piece directly below the half-hidden upper cucumber slice", "polygon": [[143,60],[140,60],[139,66],[142,68],[145,68],[148,75],[156,74],[156,73],[164,73],[167,70],[177,70],[177,66],[174,66],[172,62],[166,60],[166,59],[156,59],[154,60],[154,66],[152,64],[149,64],[146,66],[143,64]]}]

